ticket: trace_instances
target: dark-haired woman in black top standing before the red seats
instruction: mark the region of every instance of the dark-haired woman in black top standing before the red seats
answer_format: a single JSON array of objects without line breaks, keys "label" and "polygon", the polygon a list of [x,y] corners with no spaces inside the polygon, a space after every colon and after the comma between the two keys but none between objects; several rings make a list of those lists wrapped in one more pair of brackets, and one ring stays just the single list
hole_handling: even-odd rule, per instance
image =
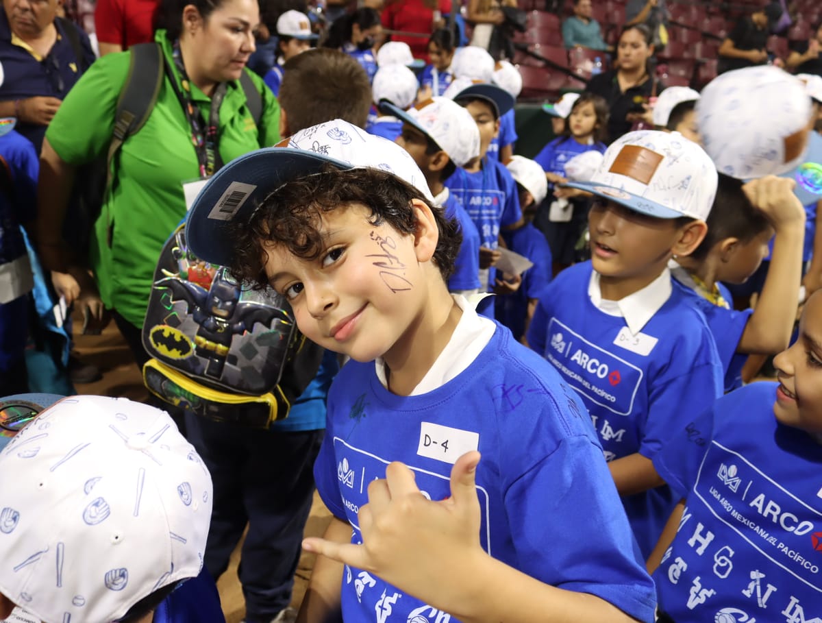
[{"label": "dark-haired woman in black top standing before the red seats", "polygon": [[608,144],[630,132],[635,123],[653,127],[649,102],[664,87],[649,68],[652,57],[653,36],[648,26],[626,26],[617,43],[616,67],[593,76],[585,88],[608,103]]}]

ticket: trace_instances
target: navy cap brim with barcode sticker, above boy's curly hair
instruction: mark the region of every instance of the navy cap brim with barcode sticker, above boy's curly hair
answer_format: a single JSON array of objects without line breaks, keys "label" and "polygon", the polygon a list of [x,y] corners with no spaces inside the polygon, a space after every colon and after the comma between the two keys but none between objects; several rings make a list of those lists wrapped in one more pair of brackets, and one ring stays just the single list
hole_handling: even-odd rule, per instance
[{"label": "navy cap brim with barcode sticker, above boy's curly hair", "polygon": [[233,159],[210,178],[188,212],[189,251],[210,264],[229,265],[234,255],[226,237],[229,224],[247,222],[271,192],[320,173],[326,164],[340,170],[353,168],[326,155],[290,147],[266,147]]}]

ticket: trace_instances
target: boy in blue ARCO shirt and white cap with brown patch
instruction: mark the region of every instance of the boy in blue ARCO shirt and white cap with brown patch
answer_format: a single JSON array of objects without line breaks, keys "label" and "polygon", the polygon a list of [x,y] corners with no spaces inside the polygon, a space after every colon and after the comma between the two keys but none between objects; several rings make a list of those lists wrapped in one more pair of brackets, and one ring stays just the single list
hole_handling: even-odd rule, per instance
[{"label": "boy in blue ARCO shirt and white cap with brown patch", "polygon": [[528,343],[582,396],[647,556],[675,499],[651,459],[667,432],[722,395],[704,316],[673,288],[667,262],[704,238],[717,173],[677,134],[629,132],[591,182],[591,261],[557,275]]}]

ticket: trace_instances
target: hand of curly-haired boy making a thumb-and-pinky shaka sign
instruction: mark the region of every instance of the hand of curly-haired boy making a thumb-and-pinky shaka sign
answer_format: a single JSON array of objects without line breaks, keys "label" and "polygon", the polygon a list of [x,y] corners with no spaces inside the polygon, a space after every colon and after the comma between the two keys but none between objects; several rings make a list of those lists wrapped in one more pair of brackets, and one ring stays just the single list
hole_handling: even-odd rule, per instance
[{"label": "hand of curly-haired boy making a thumb-and-pinky shaka sign", "polygon": [[362,545],[307,538],[307,551],[380,576],[434,607],[455,597],[455,584],[470,581],[473,561],[486,556],[479,542],[480,506],[474,476],[479,453],[471,451],[451,468],[451,496],[431,501],[401,463],[386,479],[368,485],[368,503],[358,521]]}]

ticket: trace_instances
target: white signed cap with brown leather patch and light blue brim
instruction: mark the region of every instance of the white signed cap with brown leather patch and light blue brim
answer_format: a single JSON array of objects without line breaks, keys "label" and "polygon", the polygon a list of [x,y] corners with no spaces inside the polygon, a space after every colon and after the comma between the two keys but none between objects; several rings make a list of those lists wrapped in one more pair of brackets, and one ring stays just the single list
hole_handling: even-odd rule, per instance
[{"label": "white signed cap with brown leather patch and light blue brim", "polygon": [[628,132],[605,151],[590,182],[566,186],[658,219],[708,218],[717,170],[704,150],[679,132]]}]

